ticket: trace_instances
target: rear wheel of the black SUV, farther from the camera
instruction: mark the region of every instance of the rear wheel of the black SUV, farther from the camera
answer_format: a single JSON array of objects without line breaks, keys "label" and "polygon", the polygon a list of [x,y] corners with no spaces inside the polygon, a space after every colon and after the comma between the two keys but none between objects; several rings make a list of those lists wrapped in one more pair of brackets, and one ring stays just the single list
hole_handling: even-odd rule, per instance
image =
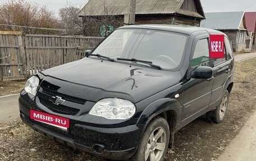
[{"label": "rear wheel of the black SUV, farther from the camera", "polygon": [[220,105],[214,111],[209,111],[206,113],[206,116],[211,119],[214,123],[221,123],[226,116],[227,109],[228,109],[228,100],[229,100],[229,93],[226,90],[225,94],[221,99]]}]

